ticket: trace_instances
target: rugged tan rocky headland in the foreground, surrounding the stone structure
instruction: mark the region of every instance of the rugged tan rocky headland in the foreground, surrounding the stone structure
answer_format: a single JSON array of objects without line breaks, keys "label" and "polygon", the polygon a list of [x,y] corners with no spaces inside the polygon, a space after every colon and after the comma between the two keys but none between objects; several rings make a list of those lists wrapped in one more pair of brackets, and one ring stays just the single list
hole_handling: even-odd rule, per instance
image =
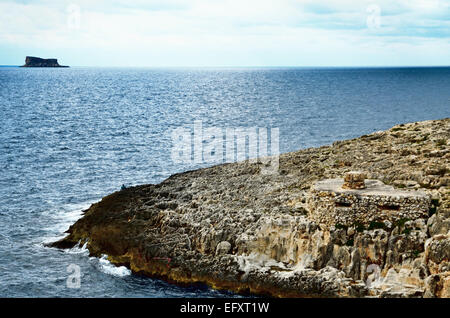
[{"label": "rugged tan rocky headland in the foreground, surrounding the stone structure", "polygon": [[[177,283],[280,297],[450,297],[450,119],[398,125],[280,155],[277,174],[238,162],[115,192],[52,244]],[[429,210],[413,219],[320,224],[318,180],[365,171]],[[415,192],[414,192],[415,193]],[[386,213],[389,213],[387,211]]]}]

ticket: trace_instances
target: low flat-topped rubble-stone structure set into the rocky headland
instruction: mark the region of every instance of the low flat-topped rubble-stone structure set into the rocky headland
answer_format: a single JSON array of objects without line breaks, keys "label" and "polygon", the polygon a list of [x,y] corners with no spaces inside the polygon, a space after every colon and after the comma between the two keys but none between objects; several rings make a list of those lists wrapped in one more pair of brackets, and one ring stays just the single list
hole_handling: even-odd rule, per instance
[{"label": "low flat-topped rubble-stone structure set into the rocky headland", "polygon": [[373,225],[428,217],[430,197],[421,191],[399,191],[378,180],[361,190],[343,189],[343,179],[319,181],[308,198],[309,218],[326,226]]}]

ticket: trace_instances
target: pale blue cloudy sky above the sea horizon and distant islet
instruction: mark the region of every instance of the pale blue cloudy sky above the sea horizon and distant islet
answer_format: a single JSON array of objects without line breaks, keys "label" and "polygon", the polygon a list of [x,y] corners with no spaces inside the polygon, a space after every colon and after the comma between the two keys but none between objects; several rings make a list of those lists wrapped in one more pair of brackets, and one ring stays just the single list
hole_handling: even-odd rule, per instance
[{"label": "pale blue cloudy sky above the sea horizon and distant islet", "polygon": [[0,0],[0,65],[450,65],[450,0]]}]

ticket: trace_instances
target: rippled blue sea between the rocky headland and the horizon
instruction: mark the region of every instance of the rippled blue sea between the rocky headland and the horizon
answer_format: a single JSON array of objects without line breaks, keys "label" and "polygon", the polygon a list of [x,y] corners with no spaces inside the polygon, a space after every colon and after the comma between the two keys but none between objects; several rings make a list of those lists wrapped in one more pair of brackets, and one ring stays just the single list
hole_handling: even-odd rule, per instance
[{"label": "rippled blue sea between the rocky headland and the horizon", "polygon": [[233,297],[44,246],[122,184],[209,165],[171,159],[175,128],[278,127],[287,152],[449,116],[450,68],[2,67],[0,297]]}]

